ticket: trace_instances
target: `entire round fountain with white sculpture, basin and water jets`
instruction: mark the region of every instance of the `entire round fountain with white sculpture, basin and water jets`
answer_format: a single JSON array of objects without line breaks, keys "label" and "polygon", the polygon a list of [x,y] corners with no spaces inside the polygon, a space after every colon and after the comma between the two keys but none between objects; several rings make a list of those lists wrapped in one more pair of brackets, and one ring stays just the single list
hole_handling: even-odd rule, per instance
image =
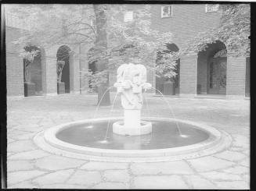
[{"label": "entire round fountain with white sculpture, basin and water jets", "polygon": [[[34,137],[43,150],[67,157],[96,161],[171,161],[213,154],[229,147],[230,136],[197,122],[175,118],[142,118],[142,92],[153,88],[146,83],[146,67],[123,64],[117,69],[117,95],[124,115],[70,122],[46,129]],[[110,87],[111,88],[111,87]],[[108,88],[108,90],[110,89]],[[147,110],[149,103],[146,100]],[[110,113],[113,111],[114,103]],[[148,112],[150,113],[150,112]],[[112,130],[112,131],[111,131]]]}]

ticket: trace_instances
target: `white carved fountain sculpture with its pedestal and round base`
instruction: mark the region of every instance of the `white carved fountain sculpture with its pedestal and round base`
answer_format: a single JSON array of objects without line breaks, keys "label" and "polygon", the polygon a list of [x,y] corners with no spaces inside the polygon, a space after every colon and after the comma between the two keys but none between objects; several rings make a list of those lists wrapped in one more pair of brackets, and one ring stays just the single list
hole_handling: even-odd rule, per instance
[{"label": "white carved fountain sculpture with its pedestal and round base", "polygon": [[151,133],[151,122],[141,121],[142,90],[152,87],[150,83],[146,83],[145,66],[132,63],[119,66],[114,87],[117,87],[117,94],[121,94],[124,121],[114,122],[113,133],[125,136]]}]

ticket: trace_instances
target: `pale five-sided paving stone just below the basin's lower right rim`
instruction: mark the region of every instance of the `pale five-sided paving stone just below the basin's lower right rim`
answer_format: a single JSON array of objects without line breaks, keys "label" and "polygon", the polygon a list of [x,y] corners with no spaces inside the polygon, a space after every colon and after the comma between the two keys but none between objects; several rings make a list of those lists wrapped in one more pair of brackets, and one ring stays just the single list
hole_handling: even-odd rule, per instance
[{"label": "pale five-sided paving stone just below the basin's lower right rim", "polygon": [[231,161],[229,162],[211,156],[200,157],[188,161],[197,172],[214,171],[221,168],[228,168],[229,166],[235,164]]}]

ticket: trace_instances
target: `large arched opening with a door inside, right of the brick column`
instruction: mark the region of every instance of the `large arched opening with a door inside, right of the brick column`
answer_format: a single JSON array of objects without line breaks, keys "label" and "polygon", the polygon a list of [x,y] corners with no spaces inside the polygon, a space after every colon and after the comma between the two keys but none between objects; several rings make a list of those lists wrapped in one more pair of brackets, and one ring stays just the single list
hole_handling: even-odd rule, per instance
[{"label": "large arched opening with a door inside, right of the brick column", "polygon": [[226,94],[227,50],[216,41],[197,58],[197,94]]}]

